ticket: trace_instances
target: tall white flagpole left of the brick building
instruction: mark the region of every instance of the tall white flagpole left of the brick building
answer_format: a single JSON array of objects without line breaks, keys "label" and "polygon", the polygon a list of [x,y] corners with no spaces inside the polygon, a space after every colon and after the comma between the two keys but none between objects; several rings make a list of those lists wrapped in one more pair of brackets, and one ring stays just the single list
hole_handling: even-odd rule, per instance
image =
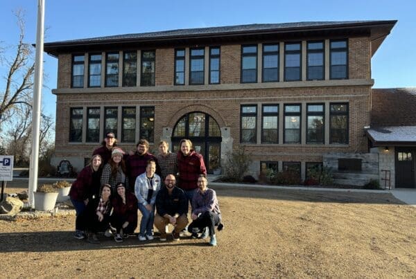
[{"label": "tall white flagpole left of the brick building", "polygon": [[37,30],[35,57],[35,86],[33,88],[33,121],[32,121],[32,152],[29,169],[29,204],[35,207],[33,192],[37,189],[37,166],[39,163],[39,131],[40,108],[43,78],[43,49],[44,49],[44,0],[37,0]]}]

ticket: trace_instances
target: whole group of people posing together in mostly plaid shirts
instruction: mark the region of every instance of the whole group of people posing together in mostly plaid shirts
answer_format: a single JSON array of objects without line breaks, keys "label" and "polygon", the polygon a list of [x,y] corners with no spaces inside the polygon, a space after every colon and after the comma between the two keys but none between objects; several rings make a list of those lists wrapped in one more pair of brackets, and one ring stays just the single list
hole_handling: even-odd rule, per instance
[{"label": "whole group of people posing together in mostly plaid shirts", "polygon": [[174,241],[187,230],[192,238],[209,236],[209,244],[216,246],[215,227],[218,231],[223,228],[218,199],[207,188],[204,160],[192,149],[191,141],[182,139],[177,154],[161,141],[157,156],[149,152],[146,140],[128,153],[116,142],[114,133],[107,133],[71,186],[69,197],[76,210],[74,237],[98,244],[97,234],[104,232],[123,242],[134,234],[140,210],[140,241],[153,240],[153,226],[160,233],[159,240],[166,241],[171,224]]}]

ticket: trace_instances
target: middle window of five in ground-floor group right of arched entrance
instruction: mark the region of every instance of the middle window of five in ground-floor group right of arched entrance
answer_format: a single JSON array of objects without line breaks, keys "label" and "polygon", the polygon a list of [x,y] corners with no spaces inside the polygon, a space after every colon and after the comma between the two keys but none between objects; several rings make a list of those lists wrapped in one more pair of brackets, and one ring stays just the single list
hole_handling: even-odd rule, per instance
[{"label": "middle window of five in ground-floor group right of arched entrance", "polygon": [[301,105],[284,105],[284,143],[300,143]]}]

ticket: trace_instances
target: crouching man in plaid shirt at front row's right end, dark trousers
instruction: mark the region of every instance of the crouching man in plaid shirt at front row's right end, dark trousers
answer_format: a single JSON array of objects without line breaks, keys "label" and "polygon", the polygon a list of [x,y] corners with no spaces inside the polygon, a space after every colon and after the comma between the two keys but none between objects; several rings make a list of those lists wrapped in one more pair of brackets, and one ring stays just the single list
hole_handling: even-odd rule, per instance
[{"label": "crouching man in plaid shirt at front row's right end, dark trousers", "polygon": [[198,190],[192,199],[191,219],[193,222],[188,226],[188,231],[192,233],[193,238],[196,238],[197,233],[208,227],[211,237],[209,245],[216,246],[215,226],[218,226],[218,231],[220,231],[223,229],[223,224],[221,224],[221,212],[216,192],[207,186],[207,177],[201,174],[198,178]]}]

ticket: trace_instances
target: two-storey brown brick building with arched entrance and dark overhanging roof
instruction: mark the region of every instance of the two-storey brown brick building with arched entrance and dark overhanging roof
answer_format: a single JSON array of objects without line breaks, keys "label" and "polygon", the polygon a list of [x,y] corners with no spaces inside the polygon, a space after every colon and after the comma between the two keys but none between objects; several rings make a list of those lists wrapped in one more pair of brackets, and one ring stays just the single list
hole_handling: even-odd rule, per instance
[{"label": "two-storey brown brick building with arched entrance and dark overhanging roof", "polygon": [[105,132],[124,150],[190,138],[209,172],[245,147],[251,172],[302,179],[327,152],[367,152],[371,57],[396,21],[250,24],[51,42],[55,158],[79,170]]}]

